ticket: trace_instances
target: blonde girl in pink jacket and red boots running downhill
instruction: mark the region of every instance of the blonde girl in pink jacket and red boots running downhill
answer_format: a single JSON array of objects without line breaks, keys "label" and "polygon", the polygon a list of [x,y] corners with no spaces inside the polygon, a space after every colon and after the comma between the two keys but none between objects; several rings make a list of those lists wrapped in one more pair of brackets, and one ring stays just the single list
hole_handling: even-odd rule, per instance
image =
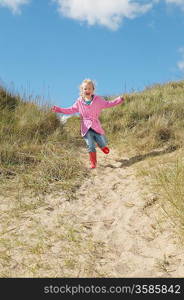
[{"label": "blonde girl in pink jacket and red boots running downhill", "polygon": [[56,113],[74,114],[78,112],[80,114],[81,135],[87,145],[92,169],[97,164],[95,143],[105,154],[108,154],[110,151],[107,147],[105,132],[98,119],[100,112],[104,108],[113,107],[124,102],[123,97],[118,97],[110,102],[106,101],[102,97],[95,95],[94,91],[94,82],[91,79],[85,79],[80,85],[80,97],[71,107],[52,107],[52,111]]}]

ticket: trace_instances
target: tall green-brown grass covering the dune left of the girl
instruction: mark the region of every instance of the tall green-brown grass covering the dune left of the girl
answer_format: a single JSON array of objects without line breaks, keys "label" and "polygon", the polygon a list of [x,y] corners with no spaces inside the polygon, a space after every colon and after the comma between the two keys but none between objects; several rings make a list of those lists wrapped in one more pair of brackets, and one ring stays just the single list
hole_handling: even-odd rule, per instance
[{"label": "tall green-brown grass covering the dune left of the girl", "polygon": [[58,116],[2,88],[0,143],[1,189],[7,186],[8,193],[8,186],[16,190],[17,184],[38,193],[50,190],[51,183],[70,182],[69,187],[84,173],[76,159],[78,144]]}]

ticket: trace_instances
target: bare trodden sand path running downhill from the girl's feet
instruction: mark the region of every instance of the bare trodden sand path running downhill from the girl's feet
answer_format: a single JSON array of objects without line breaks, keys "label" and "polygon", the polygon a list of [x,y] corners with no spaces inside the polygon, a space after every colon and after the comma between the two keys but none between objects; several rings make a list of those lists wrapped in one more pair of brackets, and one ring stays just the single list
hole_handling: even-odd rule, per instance
[{"label": "bare trodden sand path running downhill from the girl's feet", "polygon": [[183,277],[184,255],[173,224],[143,178],[135,176],[135,166],[123,166],[126,160],[98,149],[98,167],[77,192],[80,221],[111,249],[109,277]]}]

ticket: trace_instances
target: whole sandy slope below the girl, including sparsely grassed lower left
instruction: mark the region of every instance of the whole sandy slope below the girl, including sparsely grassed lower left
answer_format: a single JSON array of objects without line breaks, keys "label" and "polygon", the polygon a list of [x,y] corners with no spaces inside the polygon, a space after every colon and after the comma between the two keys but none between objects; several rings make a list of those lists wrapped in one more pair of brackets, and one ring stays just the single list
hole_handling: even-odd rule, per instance
[{"label": "whole sandy slope below the girl, including sparsely grassed lower left", "polygon": [[[106,156],[70,200],[2,199],[0,273],[8,277],[183,277],[184,254],[131,158]],[[81,154],[89,167],[88,155]],[[36,208],[34,205],[36,204]],[[16,205],[16,206],[15,206]]]}]

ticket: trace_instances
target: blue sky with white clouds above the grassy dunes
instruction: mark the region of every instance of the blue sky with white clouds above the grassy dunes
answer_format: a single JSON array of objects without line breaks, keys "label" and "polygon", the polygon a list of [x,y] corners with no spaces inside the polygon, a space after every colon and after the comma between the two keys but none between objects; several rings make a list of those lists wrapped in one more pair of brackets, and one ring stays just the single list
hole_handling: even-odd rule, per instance
[{"label": "blue sky with white clouds above the grassy dunes", "polygon": [[184,79],[184,0],[0,0],[0,82],[67,107]]}]

